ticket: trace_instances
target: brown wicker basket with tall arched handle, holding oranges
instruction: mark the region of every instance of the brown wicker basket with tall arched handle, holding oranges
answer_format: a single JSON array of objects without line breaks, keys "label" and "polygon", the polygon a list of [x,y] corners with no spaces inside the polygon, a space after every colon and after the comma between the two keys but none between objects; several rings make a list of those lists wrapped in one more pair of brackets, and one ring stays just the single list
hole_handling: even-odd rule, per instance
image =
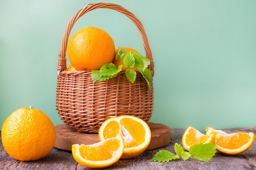
[{"label": "brown wicker basket with tall arched handle, holding oranges", "polygon": [[124,72],[108,81],[94,82],[90,71],[66,71],[65,53],[72,27],[79,17],[98,8],[113,9],[132,20],[141,35],[146,57],[150,59],[148,68],[152,75],[154,74],[148,39],[135,15],[117,4],[109,3],[88,4],[77,11],[67,24],[58,58],[56,109],[65,124],[77,131],[89,133],[98,133],[102,122],[111,117],[132,115],[148,122],[153,112],[153,80],[150,92],[146,80],[140,73],[137,73],[136,81],[132,84]]}]

